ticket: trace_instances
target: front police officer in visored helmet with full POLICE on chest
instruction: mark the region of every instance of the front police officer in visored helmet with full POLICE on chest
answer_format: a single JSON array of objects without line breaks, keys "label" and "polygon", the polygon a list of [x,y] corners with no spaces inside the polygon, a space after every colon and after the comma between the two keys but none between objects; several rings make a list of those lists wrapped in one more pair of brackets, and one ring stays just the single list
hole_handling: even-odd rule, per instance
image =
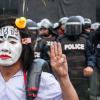
[{"label": "front police officer in visored helmet with full POLICE on chest", "polygon": [[[74,84],[80,100],[89,100],[88,95],[88,78],[93,73],[94,63],[91,61],[91,53],[87,37],[82,32],[82,22],[77,16],[71,16],[66,23],[66,31],[64,36],[58,40],[62,44],[63,53],[68,58],[69,75]],[[86,59],[88,57],[88,59]],[[93,58],[92,58],[93,60]],[[86,67],[87,66],[87,67]],[[83,73],[84,68],[87,68],[86,73]],[[87,72],[89,75],[87,75]]]}]

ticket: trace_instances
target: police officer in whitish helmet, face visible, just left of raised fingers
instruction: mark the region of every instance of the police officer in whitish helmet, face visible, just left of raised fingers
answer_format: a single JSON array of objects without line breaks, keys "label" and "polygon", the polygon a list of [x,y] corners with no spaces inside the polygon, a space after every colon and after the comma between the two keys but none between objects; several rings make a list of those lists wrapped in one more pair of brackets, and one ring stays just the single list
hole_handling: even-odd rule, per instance
[{"label": "police officer in whitish helmet, face visible, just left of raised fingers", "polygon": [[45,46],[43,47],[42,58],[49,62],[50,57],[50,45],[53,41],[56,41],[57,34],[52,30],[52,23],[49,19],[41,20],[40,37],[45,41]]}]

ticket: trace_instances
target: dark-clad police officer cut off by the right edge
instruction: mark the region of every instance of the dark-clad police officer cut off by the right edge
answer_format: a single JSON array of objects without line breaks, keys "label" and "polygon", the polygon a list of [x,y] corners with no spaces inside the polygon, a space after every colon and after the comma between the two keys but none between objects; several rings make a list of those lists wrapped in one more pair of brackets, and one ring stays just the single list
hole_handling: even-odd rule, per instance
[{"label": "dark-clad police officer cut off by the right edge", "polygon": [[92,46],[96,57],[96,68],[91,79],[91,95],[95,98],[100,98],[100,26],[92,38]]}]

